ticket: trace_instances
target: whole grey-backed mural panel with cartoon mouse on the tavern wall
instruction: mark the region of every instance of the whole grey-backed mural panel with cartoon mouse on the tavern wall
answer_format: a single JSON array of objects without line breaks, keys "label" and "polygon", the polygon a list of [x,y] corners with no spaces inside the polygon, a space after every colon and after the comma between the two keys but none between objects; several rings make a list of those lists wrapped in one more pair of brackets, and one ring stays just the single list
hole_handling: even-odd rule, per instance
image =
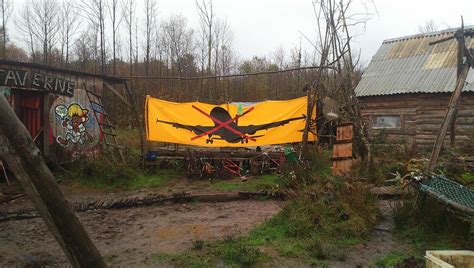
[{"label": "whole grey-backed mural panel with cartoon mouse on the tavern wall", "polygon": [[57,97],[50,110],[52,137],[74,155],[93,150],[100,141],[100,129],[86,92],[77,89],[73,97]]}]

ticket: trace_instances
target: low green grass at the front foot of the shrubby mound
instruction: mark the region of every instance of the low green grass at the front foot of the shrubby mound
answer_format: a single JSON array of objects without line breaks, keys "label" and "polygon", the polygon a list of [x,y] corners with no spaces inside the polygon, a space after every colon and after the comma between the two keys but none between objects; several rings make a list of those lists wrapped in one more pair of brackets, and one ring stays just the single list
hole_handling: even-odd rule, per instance
[{"label": "low green grass at the front foot of the shrubby mound", "polygon": [[[252,230],[246,238],[248,243],[254,246],[270,245],[281,256],[319,263],[321,260],[344,260],[346,247],[363,241],[365,225],[360,227],[357,226],[359,223],[346,223],[342,226],[326,218],[323,221],[327,223],[323,226],[322,221],[314,217],[316,213],[311,211],[314,208],[299,210],[299,206],[304,206],[301,201],[293,201],[275,217]],[[320,212],[317,214],[320,215]]]}]

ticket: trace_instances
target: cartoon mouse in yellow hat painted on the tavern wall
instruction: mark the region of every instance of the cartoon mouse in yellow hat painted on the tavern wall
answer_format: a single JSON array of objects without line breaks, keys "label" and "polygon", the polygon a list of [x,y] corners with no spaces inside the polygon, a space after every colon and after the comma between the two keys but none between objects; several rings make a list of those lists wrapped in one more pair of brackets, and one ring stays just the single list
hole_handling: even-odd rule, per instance
[{"label": "cartoon mouse in yellow hat painted on the tavern wall", "polygon": [[64,136],[58,135],[56,141],[63,145],[69,144],[85,144],[87,141],[92,142],[93,137],[87,132],[85,123],[89,121],[89,110],[84,109],[78,103],[71,103],[69,106],[58,105],[55,113],[61,118],[62,126],[66,129]]}]

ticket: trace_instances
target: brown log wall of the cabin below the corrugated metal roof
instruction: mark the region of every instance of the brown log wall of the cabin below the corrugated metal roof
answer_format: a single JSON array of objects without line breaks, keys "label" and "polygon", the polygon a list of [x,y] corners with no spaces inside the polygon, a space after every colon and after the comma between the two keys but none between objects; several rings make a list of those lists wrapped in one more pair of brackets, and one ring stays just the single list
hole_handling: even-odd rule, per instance
[{"label": "brown log wall of the cabin below the corrugated metal roof", "polygon": [[[416,143],[420,147],[432,147],[441,123],[446,114],[451,94],[419,93],[397,94],[388,96],[361,97],[361,112],[366,121],[371,137],[381,131],[387,134],[392,143]],[[399,129],[374,129],[373,122],[377,116],[400,116]],[[456,143],[461,144],[474,136],[474,93],[465,92],[455,126]],[[445,143],[449,144],[450,132]]]}]

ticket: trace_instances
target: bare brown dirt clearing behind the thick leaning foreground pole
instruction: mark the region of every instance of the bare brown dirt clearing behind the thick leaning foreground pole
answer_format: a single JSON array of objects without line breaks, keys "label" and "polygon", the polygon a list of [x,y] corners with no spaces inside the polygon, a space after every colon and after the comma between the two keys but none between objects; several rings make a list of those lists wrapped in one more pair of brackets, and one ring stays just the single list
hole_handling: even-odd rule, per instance
[{"label": "bare brown dirt clearing behind the thick leaning foreground pole", "polygon": [[[277,201],[149,206],[78,213],[109,265],[149,266],[153,253],[190,248],[196,240],[245,234],[280,211]],[[0,266],[66,265],[42,219],[0,223]]]}]

